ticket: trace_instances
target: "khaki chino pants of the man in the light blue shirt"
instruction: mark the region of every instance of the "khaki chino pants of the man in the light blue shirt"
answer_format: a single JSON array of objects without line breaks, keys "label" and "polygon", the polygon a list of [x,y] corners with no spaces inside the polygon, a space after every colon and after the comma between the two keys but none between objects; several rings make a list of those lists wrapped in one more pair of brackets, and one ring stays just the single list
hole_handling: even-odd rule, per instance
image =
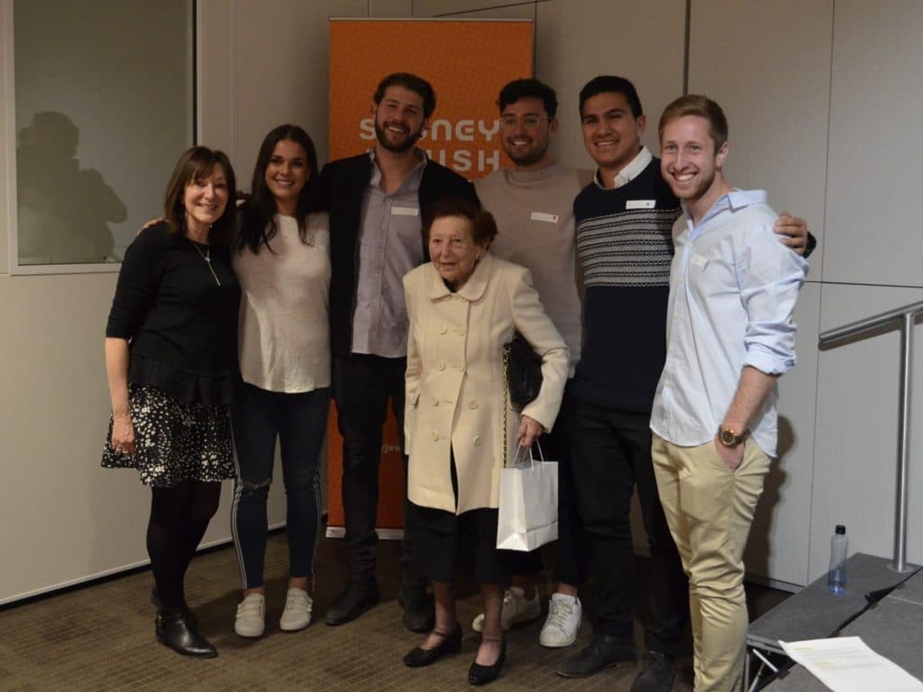
[{"label": "khaki chino pants of the man in the light blue shirt", "polygon": [[689,576],[696,692],[741,685],[749,620],[743,552],[771,459],[748,438],[731,472],[714,442],[677,447],[653,435],[653,470],[666,522]]}]

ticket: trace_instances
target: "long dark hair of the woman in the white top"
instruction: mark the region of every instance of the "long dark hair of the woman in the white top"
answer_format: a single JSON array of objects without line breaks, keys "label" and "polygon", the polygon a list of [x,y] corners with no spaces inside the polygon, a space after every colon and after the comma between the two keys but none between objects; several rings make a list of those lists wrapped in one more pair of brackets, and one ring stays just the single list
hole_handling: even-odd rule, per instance
[{"label": "long dark hair of the woman in the white top", "polygon": [[253,169],[253,182],[250,184],[250,197],[241,205],[240,229],[234,241],[234,248],[242,251],[249,248],[254,254],[262,245],[270,246],[270,240],[279,232],[276,226],[276,199],[272,197],[266,185],[266,169],[270,165],[272,152],[282,141],[294,142],[305,149],[307,157],[307,182],[298,194],[295,208],[295,221],[298,222],[298,235],[302,243],[307,242],[306,216],[311,211],[320,209],[320,181],[318,180],[318,149],[311,137],[298,125],[279,125],[270,130],[259,146],[257,165]]}]

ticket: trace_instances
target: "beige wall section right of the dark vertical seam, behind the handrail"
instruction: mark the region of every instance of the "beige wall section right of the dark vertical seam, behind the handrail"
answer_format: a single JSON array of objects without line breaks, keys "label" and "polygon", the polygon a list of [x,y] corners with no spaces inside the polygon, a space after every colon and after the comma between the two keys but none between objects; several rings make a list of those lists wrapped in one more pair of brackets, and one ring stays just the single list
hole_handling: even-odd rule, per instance
[{"label": "beige wall section right of the dark vertical seam, behind the handrail", "polygon": [[[825,352],[817,338],[923,300],[916,189],[923,49],[913,38],[923,29],[923,5],[696,0],[692,7],[689,90],[725,107],[725,173],[735,185],[766,187],[776,209],[807,218],[821,241],[797,306],[798,366],[781,382],[788,451],[773,467],[747,554],[758,574],[802,584],[826,570],[838,523],[850,550],[893,555],[897,333]],[[917,562],[919,336],[917,329],[908,520],[908,556]]]}]

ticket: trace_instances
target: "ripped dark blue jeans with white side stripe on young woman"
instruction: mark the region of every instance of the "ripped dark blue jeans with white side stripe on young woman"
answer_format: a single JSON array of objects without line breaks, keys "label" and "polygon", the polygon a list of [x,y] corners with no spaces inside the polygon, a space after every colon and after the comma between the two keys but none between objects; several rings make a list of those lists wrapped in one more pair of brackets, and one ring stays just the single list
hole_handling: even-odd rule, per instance
[{"label": "ripped dark blue jeans with white side stripe on young woman", "polygon": [[231,407],[237,478],[231,531],[244,589],[263,585],[266,500],[276,439],[282,456],[291,577],[314,584],[320,531],[318,461],[327,431],[330,388],[285,394],[244,384]]}]

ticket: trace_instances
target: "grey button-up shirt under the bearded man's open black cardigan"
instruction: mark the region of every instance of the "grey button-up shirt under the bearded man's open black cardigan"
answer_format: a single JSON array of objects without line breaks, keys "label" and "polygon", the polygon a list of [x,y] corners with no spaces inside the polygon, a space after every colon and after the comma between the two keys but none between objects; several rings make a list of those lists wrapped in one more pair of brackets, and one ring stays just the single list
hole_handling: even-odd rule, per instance
[{"label": "grey button-up shirt under the bearded man's open black cardigan", "polygon": [[418,192],[426,154],[390,195],[380,186],[375,149],[369,157],[372,177],[362,195],[353,352],[403,358],[407,355],[407,306],[402,279],[423,263]]}]

